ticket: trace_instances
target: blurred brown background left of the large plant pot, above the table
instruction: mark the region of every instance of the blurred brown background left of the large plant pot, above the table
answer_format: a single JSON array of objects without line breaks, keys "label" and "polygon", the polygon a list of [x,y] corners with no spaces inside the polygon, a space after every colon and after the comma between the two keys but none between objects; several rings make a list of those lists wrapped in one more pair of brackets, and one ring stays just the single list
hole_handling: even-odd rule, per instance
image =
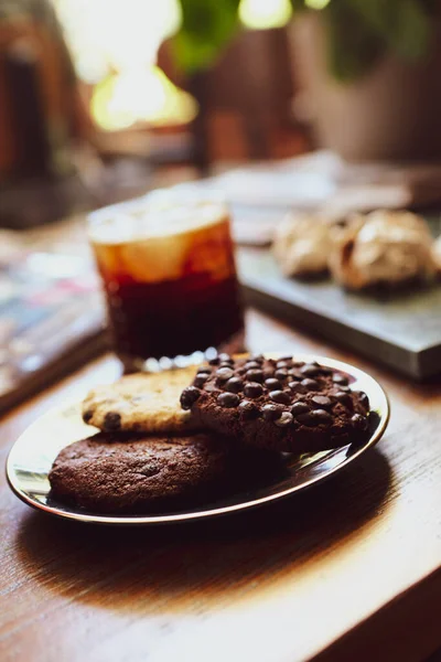
[{"label": "blurred brown background left of the large plant pot, above the table", "polygon": [[128,197],[164,164],[304,150],[291,13],[288,0],[1,0],[1,224]]}]

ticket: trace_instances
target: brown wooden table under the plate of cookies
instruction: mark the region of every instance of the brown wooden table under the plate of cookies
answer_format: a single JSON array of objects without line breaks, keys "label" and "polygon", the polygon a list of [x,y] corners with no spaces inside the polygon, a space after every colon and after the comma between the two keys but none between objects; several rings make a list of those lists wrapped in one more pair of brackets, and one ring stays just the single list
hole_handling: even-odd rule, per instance
[{"label": "brown wooden table under the plate of cookies", "polygon": [[[93,527],[0,485],[0,660],[420,661],[441,645],[441,384],[418,386],[256,311],[249,345],[359,365],[389,393],[377,449],[279,504],[175,527]],[[2,424],[1,460],[106,355]]]}]

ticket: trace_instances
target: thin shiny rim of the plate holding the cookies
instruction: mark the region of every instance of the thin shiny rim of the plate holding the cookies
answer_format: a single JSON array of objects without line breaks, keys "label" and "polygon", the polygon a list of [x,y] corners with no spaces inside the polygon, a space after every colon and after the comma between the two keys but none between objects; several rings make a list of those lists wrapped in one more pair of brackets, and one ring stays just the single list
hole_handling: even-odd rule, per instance
[{"label": "thin shiny rim of the plate holding the cookies", "polygon": [[[287,355],[287,352],[263,352],[263,355],[268,359],[278,359],[280,356]],[[379,419],[378,426],[377,426],[375,433],[368,439],[368,441],[366,444],[362,445],[357,450],[355,450],[355,452],[347,456],[342,463],[331,468],[324,476],[318,474],[315,477],[310,478],[305,483],[292,485],[290,488],[281,490],[280,492],[276,492],[273,494],[269,494],[266,496],[260,496],[258,499],[251,499],[249,501],[240,501],[238,503],[234,503],[230,505],[225,505],[222,508],[212,508],[209,510],[200,510],[196,512],[183,512],[183,513],[172,513],[172,514],[161,514],[161,515],[158,515],[158,514],[152,514],[152,515],[117,515],[117,514],[116,515],[103,515],[103,514],[99,515],[99,514],[96,514],[96,515],[94,515],[94,514],[89,514],[89,513],[64,511],[58,508],[50,506],[50,505],[46,505],[44,503],[40,503],[40,502],[33,500],[18,484],[15,484],[14,478],[13,478],[15,476],[15,471],[13,469],[12,462],[13,462],[13,457],[14,457],[14,450],[15,450],[17,446],[20,444],[23,435],[25,435],[33,426],[35,426],[39,421],[41,421],[42,418],[51,417],[51,415],[53,415],[55,412],[61,412],[63,409],[67,409],[67,407],[69,407],[69,406],[71,407],[73,405],[77,406],[80,401],[78,398],[72,398],[71,401],[69,399],[64,401],[63,403],[55,405],[54,407],[51,407],[50,409],[47,409],[44,414],[42,414],[34,421],[32,421],[21,433],[21,435],[18,437],[18,439],[14,441],[11,449],[9,450],[7,462],[6,462],[6,474],[7,474],[8,484],[10,487],[10,489],[12,490],[12,492],[26,505],[30,505],[31,508],[33,508],[37,511],[42,511],[47,514],[51,514],[55,517],[61,517],[64,520],[73,520],[76,522],[84,522],[84,523],[88,523],[88,524],[125,525],[125,526],[137,526],[137,525],[141,526],[141,525],[148,525],[148,524],[150,524],[150,525],[178,524],[178,523],[184,523],[184,522],[200,521],[200,520],[203,520],[206,517],[212,519],[212,517],[216,517],[216,516],[226,515],[229,513],[247,511],[252,508],[259,508],[261,505],[271,503],[272,501],[277,501],[279,499],[286,499],[287,496],[290,496],[301,490],[306,490],[306,489],[313,487],[315,483],[326,480],[327,478],[330,478],[337,471],[347,467],[348,465],[354,462],[354,460],[358,459],[363,453],[365,453],[367,450],[369,450],[370,448],[373,448],[374,446],[376,446],[378,444],[378,441],[383,437],[383,435],[388,426],[389,419],[390,419],[390,402],[387,396],[387,393],[385,392],[383,386],[379,384],[379,382],[375,377],[373,377],[369,373],[366,373],[365,371],[352,365],[351,363],[346,363],[346,362],[340,361],[337,359],[332,359],[330,356],[322,356],[322,355],[309,354],[309,353],[293,353],[292,356],[294,356],[299,361],[305,361],[305,362],[318,361],[319,363],[321,363],[325,366],[334,367],[342,372],[346,372],[347,374],[356,377],[357,380],[359,380],[362,377],[364,380],[367,378],[368,381],[373,382],[373,385],[376,387],[378,395],[383,399],[383,403],[380,405],[381,414],[380,414],[380,419]],[[93,427],[93,426],[89,426],[89,427]],[[330,452],[333,452],[334,450],[338,450],[338,449],[330,449]]]}]

